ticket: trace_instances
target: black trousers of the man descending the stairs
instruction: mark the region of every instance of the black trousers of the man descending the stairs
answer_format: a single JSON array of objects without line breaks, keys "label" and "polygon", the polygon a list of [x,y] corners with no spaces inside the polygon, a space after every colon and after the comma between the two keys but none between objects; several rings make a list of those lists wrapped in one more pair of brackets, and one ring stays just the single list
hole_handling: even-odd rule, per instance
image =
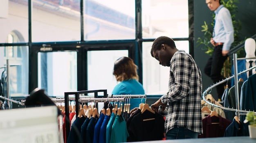
[{"label": "black trousers of the man descending the stairs", "polygon": [[[204,73],[211,78],[214,84],[225,79],[225,77],[221,75],[221,69],[228,56],[222,56],[222,47],[223,45],[218,45],[214,48],[213,54],[204,67]],[[221,99],[224,93],[224,85],[225,83],[216,87],[219,99]]]}]

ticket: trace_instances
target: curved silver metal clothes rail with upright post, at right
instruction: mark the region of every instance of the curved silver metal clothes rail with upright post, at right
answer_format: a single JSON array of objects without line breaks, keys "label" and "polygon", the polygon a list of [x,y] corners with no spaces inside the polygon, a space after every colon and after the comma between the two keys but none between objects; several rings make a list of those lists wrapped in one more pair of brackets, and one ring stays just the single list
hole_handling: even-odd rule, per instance
[{"label": "curved silver metal clothes rail with upright post, at right", "polygon": [[[239,113],[239,112],[241,112],[241,113],[248,113],[248,112],[250,112],[250,111],[245,111],[245,110],[240,110],[240,109],[239,109],[238,75],[241,75],[241,74],[243,74],[243,73],[245,73],[245,72],[248,72],[248,71],[250,71],[250,70],[256,68],[256,66],[254,66],[254,67],[251,67],[251,68],[249,68],[249,69],[244,70],[243,72],[238,73],[238,72],[237,72],[237,60],[240,60],[240,59],[248,59],[248,58],[238,58],[238,59],[237,59],[237,58],[236,58],[236,54],[234,54],[234,75],[233,75],[233,76],[230,76],[229,78],[226,78],[226,79],[224,79],[224,80],[222,80],[222,81],[220,81],[220,82],[217,82],[217,83],[214,84],[214,85],[211,85],[211,86],[208,87],[208,88],[203,92],[203,94],[202,94],[203,100],[204,100],[205,102],[207,102],[208,104],[210,104],[210,105],[212,105],[212,106],[216,106],[216,107],[221,108],[221,109],[224,109],[224,110],[235,111],[235,112],[236,112],[236,115],[238,116],[238,119],[239,119],[239,120],[240,120],[240,115],[239,115],[240,113]],[[218,85],[221,85],[222,83],[225,83],[225,82],[227,82],[228,80],[231,80],[232,78],[235,78],[236,109],[218,106],[218,105],[216,105],[216,104],[213,104],[213,103],[209,102],[209,101],[206,99],[206,96],[207,96],[208,91],[211,91],[211,89],[212,89],[213,87],[216,87],[216,86],[218,86]],[[256,112],[254,112],[254,113],[256,113]]]}]

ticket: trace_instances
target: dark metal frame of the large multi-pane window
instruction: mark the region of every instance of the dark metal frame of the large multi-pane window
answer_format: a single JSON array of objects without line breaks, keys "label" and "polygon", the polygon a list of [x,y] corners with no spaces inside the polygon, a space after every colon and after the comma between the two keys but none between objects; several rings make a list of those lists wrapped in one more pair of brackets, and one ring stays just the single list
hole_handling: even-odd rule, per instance
[{"label": "dark metal frame of the large multi-pane window", "polygon": [[[189,41],[189,54],[194,56],[194,26],[193,26],[193,0],[188,0],[189,2],[189,37],[184,38],[174,38],[176,41]],[[103,40],[103,41],[84,41],[83,32],[83,0],[81,0],[81,40],[80,41],[67,41],[67,42],[43,42],[43,43],[33,43],[31,37],[31,15],[32,15],[32,0],[28,0],[28,20],[29,20],[29,33],[28,42],[26,43],[0,43],[0,46],[28,46],[29,47],[29,93],[37,87],[38,77],[37,77],[37,53],[40,52],[42,45],[51,45],[52,51],[76,51],[78,58],[78,83],[81,84],[80,80],[86,81],[86,78],[82,75],[87,75],[86,71],[86,60],[83,57],[86,55],[85,52],[88,50],[121,50],[120,48],[110,48],[116,45],[124,44],[128,45],[129,56],[135,61],[138,66],[139,81],[142,83],[142,43],[145,41],[154,41],[155,39],[143,39],[142,38],[142,24],[141,24],[141,0],[135,0],[135,39],[130,40]],[[105,45],[108,45],[106,47]],[[132,46],[131,46],[132,45]],[[80,48],[77,48],[79,47]],[[83,54],[83,55],[82,55]],[[36,74],[35,74],[35,73]],[[78,91],[87,89],[87,81],[83,82],[81,85],[78,84]],[[143,83],[142,83],[143,84]]]}]

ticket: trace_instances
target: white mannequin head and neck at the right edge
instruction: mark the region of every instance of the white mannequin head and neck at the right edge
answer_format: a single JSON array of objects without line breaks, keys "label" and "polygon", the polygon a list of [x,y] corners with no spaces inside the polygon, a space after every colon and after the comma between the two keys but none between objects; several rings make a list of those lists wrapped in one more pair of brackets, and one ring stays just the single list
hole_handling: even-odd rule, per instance
[{"label": "white mannequin head and neck at the right edge", "polygon": [[[252,38],[248,38],[245,40],[245,53],[246,53],[246,56],[245,58],[252,58],[252,57],[256,57],[255,56],[255,50],[256,50],[256,42],[254,39]],[[250,63],[249,61],[253,61],[252,62],[252,66],[255,66],[255,61],[256,59],[246,59],[245,60],[246,63],[245,63],[245,67],[246,69],[249,69],[249,66],[250,66]],[[252,74],[255,73],[255,68],[252,69]],[[247,77],[249,77],[249,72],[247,72]]]}]

